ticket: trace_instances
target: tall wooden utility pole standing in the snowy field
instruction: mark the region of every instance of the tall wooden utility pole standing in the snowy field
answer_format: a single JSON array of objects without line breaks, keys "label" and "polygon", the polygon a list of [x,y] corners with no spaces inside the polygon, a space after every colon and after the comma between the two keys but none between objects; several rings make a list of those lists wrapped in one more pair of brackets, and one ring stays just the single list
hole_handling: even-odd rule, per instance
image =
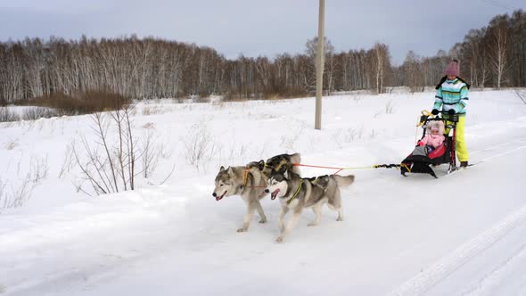
[{"label": "tall wooden utility pole standing in the snowy field", "polygon": [[322,129],[322,95],[324,90],[324,27],[325,27],[325,0],[320,1],[317,23],[317,51],[316,51],[316,114],[314,128]]}]

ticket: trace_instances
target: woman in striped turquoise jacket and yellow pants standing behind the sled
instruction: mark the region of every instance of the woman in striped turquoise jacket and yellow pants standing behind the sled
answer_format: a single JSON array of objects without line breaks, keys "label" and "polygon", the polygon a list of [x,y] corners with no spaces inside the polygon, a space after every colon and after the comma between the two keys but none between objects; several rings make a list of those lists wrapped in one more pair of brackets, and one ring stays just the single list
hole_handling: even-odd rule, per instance
[{"label": "woman in striped turquoise jacket and yellow pants standing behind the sled", "polygon": [[[462,78],[458,77],[459,74],[458,61],[453,60],[446,68],[446,76],[440,80],[439,85],[436,87],[437,94],[435,95],[435,103],[431,113],[433,115],[439,114],[441,107],[444,119],[449,119],[450,116],[458,114],[458,122],[456,123],[456,157],[460,161],[460,167],[465,168],[469,159],[464,140],[465,106],[468,101],[469,85]],[[446,129],[445,133],[448,134],[449,129]]]}]

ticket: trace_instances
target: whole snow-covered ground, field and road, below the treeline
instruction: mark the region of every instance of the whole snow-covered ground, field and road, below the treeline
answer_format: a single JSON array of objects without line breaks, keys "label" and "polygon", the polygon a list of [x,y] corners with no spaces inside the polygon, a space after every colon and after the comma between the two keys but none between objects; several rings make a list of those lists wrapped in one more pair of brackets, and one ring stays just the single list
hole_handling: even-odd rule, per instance
[{"label": "whole snow-covered ground, field and road, below the treeline", "polygon": [[[88,116],[0,123],[4,199],[37,178],[21,207],[0,210],[0,295],[526,295],[526,105],[513,91],[470,95],[476,166],[440,166],[439,179],[342,171],[357,177],[345,220],[325,208],[308,227],[307,210],[284,243],[277,201],[262,201],[267,224],[237,233],[242,200],[211,196],[221,165],[284,152],[327,167],[399,163],[433,96],[326,97],[322,130],[313,98],[139,103],[134,131],[155,139],[158,168],[135,192],[99,197],[77,193],[69,161],[72,143],[94,137]],[[205,155],[191,164],[195,143]]]}]

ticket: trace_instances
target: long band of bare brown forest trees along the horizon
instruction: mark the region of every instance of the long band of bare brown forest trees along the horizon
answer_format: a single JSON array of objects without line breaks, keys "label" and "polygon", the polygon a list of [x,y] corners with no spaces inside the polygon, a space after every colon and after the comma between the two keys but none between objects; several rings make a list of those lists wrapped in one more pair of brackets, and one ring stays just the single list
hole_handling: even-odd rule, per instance
[{"label": "long band of bare brown forest trees along the horizon", "polygon": [[[0,103],[60,93],[105,90],[130,98],[225,95],[227,99],[313,94],[316,38],[305,53],[272,59],[228,60],[210,47],[160,38],[26,38],[0,42]],[[420,57],[407,53],[393,66],[389,46],[336,53],[325,40],[325,93],[392,86],[414,91],[436,84],[448,62],[461,63],[461,76],[475,87],[526,86],[526,14],[497,15],[472,29],[448,52]]]}]

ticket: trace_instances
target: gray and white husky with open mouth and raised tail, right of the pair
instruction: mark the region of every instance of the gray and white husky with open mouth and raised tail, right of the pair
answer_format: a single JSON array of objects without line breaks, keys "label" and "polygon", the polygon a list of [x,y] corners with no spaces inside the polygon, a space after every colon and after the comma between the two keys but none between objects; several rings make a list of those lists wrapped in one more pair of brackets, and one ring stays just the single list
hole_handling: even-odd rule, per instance
[{"label": "gray and white husky with open mouth and raised tail, right of the pair", "polygon": [[[330,209],[338,212],[336,220],[342,221],[340,187],[351,185],[353,182],[354,175],[301,178],[300,175],[288,170],[283,174],[273,174],[267,181],[267,192],[270,193],[272,200],[278,197],[281,204],[277,221],[281,234],[277,237],[276,242],[284,241],[285,236],[298,223],[301,211],[306,208],[312,208],[316,215],[315,220],[308,226],[316,226],[319,223],[321,208],[325,202]],[[284,226],[284,217],[289,210],[292,210],[292,217]]]}]

